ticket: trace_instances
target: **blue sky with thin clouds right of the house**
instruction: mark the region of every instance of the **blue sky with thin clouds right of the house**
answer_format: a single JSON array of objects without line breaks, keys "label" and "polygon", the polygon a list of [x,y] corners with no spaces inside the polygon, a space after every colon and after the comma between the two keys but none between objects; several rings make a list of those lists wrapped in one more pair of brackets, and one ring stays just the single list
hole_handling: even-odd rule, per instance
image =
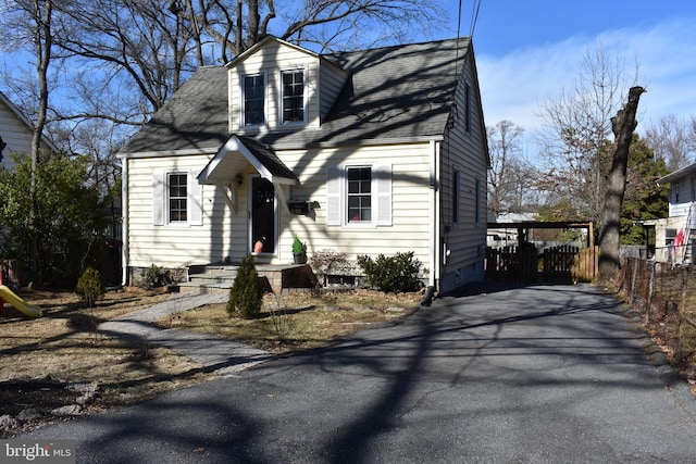
[{"label": "blue sky with thin clouds right of the house", "polygon": [[[458,0],[444,0],[457,34]],[[469,35],[473,0],[462,0]],[[486,125],[510,120],[538,129],[539,104],[572,89],[583,54],[598,43],[622,57],[648,92],[639,125],[663,115],[696,116],[696,1],[482,0],[473,43]],[[627,93],[627,88],[625,89]]]}]

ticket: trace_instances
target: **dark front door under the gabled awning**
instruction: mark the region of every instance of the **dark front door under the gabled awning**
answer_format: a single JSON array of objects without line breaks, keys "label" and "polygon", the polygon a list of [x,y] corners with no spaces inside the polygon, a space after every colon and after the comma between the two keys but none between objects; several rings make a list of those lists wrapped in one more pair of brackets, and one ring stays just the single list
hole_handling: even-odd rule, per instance
[{"label": "dark front door under the gabled awning", "polygon": [[275,189],[269,180],[251,177],[250,250],[256,253],[275,252],[276,201]]}]

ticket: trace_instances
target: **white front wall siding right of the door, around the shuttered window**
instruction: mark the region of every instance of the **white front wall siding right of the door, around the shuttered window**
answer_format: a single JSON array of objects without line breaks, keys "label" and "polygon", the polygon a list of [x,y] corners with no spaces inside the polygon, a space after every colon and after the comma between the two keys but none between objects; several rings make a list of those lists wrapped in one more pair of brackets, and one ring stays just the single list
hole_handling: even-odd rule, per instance
[{"label": "white front wall siding right of the door, around the shuttered window", "polygon": [[[413,251],[426,267],[431,266],[428,247],[433,205],[430,203],[428,179],[432,148],[427,142],[286,151],[278,152],[278,156],[300,179],[300,186],[291,188],[291,199],[319,204],[308,216],[287,213],[282,216],[278,262],[293,261],[291,244],[297,236],[307,243],[309,255],[332,249],[355,261],[358,254],[376,256],[380,253],[393,255]],[[326,225],[326,180],[330,168],[339,165],[390,165],[390,226],[348,225],[345,221],[343,225]],[[373,190],[373,208],[376,202],[374,195]]]}]

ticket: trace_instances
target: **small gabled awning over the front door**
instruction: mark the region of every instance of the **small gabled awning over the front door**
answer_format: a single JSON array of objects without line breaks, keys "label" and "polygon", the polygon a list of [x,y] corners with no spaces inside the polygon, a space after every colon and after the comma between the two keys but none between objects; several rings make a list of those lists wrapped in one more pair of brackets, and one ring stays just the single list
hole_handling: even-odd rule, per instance
[{"label": "small gabled awning over the front door", "polygon": [[229,184],[247,162],[273,184],[297,185],[298,178],[275,152],[250,137],[232,135],[198,175],[199,184]]}]

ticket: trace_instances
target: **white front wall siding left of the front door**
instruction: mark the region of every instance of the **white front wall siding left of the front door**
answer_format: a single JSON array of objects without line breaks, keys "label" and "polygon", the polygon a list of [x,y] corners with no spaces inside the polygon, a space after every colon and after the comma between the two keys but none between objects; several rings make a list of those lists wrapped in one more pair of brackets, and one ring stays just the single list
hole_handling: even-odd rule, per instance
[{"label": "white front wall siding left of the front door", "polygon": [[[202,189],[202,217],[196,224],[154,225],[153,211],[164,198],[154,198],[153,177],[167,172],[197,176],[210,158],[183,155],[127,160],[128,162],[128,264],[149,267],[157,264],[177,267],[186,264],[220,262],[225,256],[240,260],[246,250],[246,197],[239,188],[237,213],[217,186]],[[235,188],[233,186],[233,188]],[[166,193],[164,193],[166,195]],[[190,212],[190,202],[189,202]],[[165,213],[166,216],[166,213]],[[235,227],[236,226],[236,227]],[[233,253],[233,250],[238,250]]]}]

